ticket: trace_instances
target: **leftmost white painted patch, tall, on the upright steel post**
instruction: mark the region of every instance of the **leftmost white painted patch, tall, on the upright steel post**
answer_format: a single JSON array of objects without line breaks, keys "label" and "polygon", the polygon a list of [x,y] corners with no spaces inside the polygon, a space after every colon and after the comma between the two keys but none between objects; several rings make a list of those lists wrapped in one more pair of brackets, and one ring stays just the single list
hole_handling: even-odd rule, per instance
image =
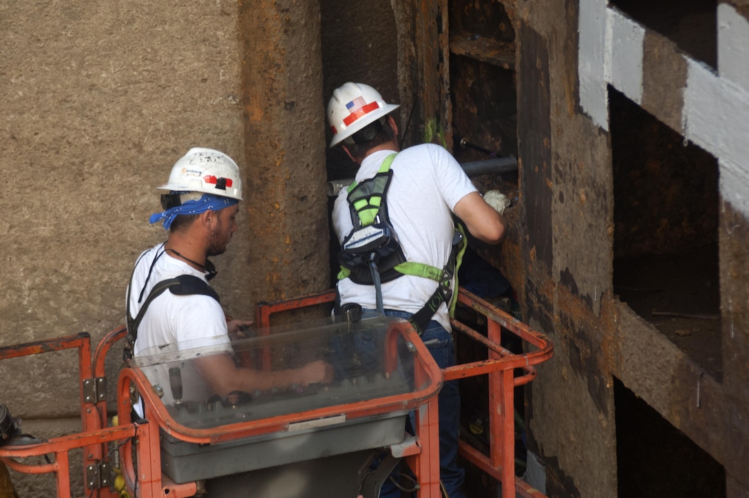
[{"label": "leftmost white painted patch, tall, on the upright steel post", "polygon": [[606,4],[606,0],[580,0],[577,19],[580,26],[577,47],[580,107],[604,130],[608,130]]}]

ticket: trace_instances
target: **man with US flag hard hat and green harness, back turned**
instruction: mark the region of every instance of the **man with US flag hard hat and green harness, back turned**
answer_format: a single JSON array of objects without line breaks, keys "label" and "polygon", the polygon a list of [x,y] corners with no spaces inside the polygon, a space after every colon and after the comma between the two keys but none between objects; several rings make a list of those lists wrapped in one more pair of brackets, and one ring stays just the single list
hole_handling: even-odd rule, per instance
[{"label": "man with US flag hard hat and green harness, back turned", "polygon": [[[445,148],[422,144],[400,150],[395,109],[375,88],[352,82],[333,91],[327,106],[330,147],[341,146],[359,165],[356,182],[339,193],[333,207],[342,243],[339,309],[355,304],[410,320],[445,368],[455,365],[449,318],[457,294],[456,254],[465,242],[453,215],[473,237],[490,244],[503,239],[505,223]],[[377,237],[381,245],[372,249]],[[461,498],[457,380],[440,391],[439,418],[440,481],[447,496]],[[385,496],[401,495],[386,482],[380,492]]]}]

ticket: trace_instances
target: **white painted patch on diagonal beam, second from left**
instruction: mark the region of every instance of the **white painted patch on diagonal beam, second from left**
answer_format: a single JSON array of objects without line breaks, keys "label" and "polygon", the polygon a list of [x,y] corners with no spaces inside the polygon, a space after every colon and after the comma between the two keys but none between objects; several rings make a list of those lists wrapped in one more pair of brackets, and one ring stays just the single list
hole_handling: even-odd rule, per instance
[{"label": "white painted patch on diagonal beam, second from left", "polygon": [[629,99],[643,102],[643,45],[645,29],[618,10],[609,9],[607,46],[610,46],[610,76],[607,81]]}]

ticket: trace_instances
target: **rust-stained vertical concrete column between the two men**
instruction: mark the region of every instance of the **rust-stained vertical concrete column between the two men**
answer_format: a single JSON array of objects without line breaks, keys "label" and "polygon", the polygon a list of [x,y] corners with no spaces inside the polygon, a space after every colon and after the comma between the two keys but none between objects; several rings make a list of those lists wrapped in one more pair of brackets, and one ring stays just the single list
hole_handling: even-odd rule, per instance
[{"label": "rust-stained vertical concrete column between the two men", "polygon": [[[234,286],[279,300],[328,285],[320,11],[315,1],[241,7],[246,203],[252,271]],[[261,69],[262,68],[262,69]]]}]

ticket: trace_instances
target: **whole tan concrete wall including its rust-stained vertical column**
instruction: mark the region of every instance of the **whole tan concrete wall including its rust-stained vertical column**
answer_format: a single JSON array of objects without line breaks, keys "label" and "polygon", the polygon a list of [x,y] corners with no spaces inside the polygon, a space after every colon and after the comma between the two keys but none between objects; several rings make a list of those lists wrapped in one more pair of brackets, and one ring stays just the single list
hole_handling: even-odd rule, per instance
[{"label": "whole tan concrete wall including its rust-stained vertical column", "polygon": [[[124,324],[133,263],[166,240],[148,224],[155,187],[192,146],[225,151],[245,182],[214,261],[227,315],[327,288],[318,3],[250,3],[0,5],[0,345],[82,331],[95,345]],[[76,431],[75,353],[0,369],[26,432]],[[22,497],[53,494],[50,479],[13,481]]]}]

